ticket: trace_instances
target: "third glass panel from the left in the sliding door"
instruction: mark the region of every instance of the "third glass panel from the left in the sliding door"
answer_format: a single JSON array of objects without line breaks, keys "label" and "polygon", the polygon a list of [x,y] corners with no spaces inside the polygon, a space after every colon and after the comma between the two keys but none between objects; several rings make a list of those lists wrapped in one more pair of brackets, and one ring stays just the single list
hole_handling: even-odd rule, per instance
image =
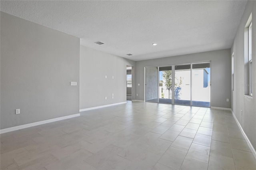
[{"label": "third glass panel from the left in the sliding door", "polygon": [[174,103],[190,105],[190,64],[175,66]]}]

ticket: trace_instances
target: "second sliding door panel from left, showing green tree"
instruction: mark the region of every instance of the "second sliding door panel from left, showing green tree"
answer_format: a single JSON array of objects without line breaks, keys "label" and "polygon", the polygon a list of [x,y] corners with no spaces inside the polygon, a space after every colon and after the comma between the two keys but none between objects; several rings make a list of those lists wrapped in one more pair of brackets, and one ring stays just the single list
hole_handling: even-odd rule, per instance
[{"label": "second sliding door panel from left, showing green tree", "polygon": [[172,103],[172,66],[159,67],[159,103]]}]

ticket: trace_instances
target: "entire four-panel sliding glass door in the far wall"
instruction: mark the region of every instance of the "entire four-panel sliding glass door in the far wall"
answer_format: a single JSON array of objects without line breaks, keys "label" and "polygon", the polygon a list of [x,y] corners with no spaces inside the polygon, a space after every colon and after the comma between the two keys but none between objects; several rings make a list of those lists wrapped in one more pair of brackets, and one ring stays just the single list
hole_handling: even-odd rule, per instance
[{"label": "entire four-panel sliding glass door in the far wall", "polygon": [[210,107],[210,62],[146,67],[145,101]]}]

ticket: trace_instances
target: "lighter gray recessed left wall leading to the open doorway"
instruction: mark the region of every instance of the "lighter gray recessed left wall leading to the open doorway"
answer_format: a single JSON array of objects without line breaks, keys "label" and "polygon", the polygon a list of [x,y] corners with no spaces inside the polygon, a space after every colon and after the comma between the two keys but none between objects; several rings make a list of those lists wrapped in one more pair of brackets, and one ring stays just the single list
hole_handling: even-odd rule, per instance
[{"label": "lighter gray recessed left wall leading to the open doorway", "polygon": [[126,65],[135,61],[80,45],[80,109],[126,101]]}]

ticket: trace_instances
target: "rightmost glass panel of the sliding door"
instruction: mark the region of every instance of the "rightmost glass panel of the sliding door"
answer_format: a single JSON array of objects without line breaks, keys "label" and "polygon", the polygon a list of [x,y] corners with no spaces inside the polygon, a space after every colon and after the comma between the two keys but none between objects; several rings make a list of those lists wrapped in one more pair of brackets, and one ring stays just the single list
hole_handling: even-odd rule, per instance
[{"label": "rightmost glass panel of the sliding door", "polygon": [[210,107],[210,63],[192,64],[192,106]]}]

